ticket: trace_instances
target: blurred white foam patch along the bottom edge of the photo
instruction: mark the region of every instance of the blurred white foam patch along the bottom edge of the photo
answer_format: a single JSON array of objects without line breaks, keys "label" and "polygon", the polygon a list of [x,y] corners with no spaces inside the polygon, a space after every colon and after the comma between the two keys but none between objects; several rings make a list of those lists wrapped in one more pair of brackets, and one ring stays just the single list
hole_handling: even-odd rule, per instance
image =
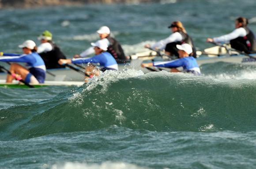
[{"label": "blurred white foam patch along the bottom edge of the photo", "polygon": [[79,162],[65,162],[64,165],[55,164],[51,169],[147,169],[125,162],[103,162],[102,164],[87,164]]}]

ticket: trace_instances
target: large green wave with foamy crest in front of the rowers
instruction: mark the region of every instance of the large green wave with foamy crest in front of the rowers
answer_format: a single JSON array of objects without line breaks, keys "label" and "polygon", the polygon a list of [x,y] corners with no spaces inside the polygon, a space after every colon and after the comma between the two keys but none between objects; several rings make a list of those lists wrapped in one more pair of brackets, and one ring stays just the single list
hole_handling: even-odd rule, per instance
[{"label": "large green wave with foamy crest in front of the rowers", "polygon": [[74,91],[1,110],[1,135],[26,139],[112,125],[157,132],[255,131],[256,81],[106,71]]}]

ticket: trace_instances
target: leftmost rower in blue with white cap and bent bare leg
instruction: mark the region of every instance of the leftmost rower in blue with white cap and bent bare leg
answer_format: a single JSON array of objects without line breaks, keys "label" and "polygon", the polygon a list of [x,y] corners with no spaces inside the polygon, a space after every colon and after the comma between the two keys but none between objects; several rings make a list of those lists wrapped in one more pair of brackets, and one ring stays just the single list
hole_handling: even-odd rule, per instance
[{"label": "leftmost rower in blue with white cap and bent bare leg", "polygon": [[[0,57],[1,62],[26,62],[29,69],[17,64],[12,63],[10,72],[19,74],[26,83],[44,83],[45,81],[45,63],[43,59],[36,52],[36,44],[33,40],[26,40],[23,44],[19,45],[22,48],[23,54],[3,54]],[[6,82],[11,83],[14,77],[10,74],[7,75]]]}]

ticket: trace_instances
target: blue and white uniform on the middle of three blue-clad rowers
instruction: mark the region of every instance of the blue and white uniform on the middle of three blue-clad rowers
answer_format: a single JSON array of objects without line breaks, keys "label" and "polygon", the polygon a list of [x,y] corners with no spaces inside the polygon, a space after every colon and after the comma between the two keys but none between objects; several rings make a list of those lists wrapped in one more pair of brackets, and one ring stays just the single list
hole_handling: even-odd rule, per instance
[{"label": "blue and white uniform on the middle of three blue-clad rowers", "polygon": [[90,58],[72,59],[72,63],[99,63],[103,67],[102,70],[118,70],[117,61],[106,51]]}]

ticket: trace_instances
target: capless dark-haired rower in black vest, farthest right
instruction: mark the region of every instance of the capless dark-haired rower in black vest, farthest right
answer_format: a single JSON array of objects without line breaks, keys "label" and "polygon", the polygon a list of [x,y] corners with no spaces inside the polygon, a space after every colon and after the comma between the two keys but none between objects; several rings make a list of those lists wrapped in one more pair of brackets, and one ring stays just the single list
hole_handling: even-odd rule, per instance
[{"label": "capless dark-haired rower in black vest, farthest right", "polygon": [[256,39],[252,31],[247,27],[248,19],[239,17],[235,20],[235,30],[220,37],[207,38],[207,42],[230,43],[231,48],[245,53],[256,52]]}]

